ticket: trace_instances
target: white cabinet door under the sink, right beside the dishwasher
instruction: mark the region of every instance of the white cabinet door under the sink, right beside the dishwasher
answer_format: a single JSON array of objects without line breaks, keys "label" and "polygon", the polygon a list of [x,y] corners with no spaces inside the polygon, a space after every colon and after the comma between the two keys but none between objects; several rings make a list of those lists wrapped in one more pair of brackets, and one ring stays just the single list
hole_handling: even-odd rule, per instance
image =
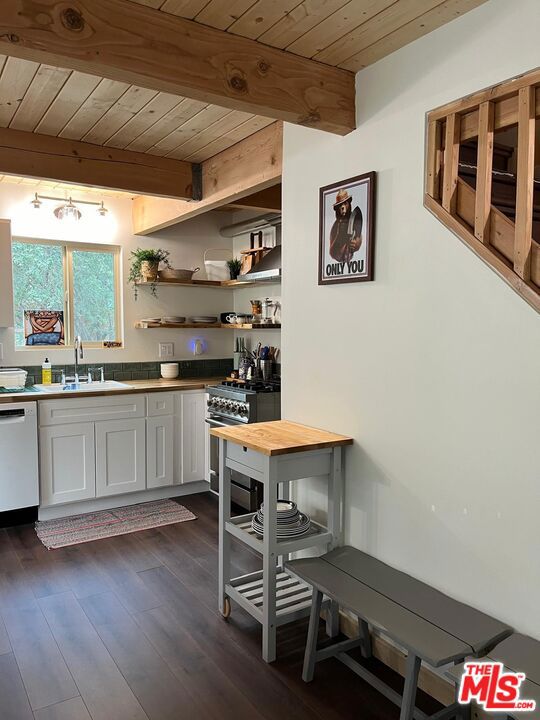
[{"label": "white cabinet door under the sink, right beside the dishwasher", "polygon": [[39,439],[41,504],[95,497],[94,423],[41,428]]}]

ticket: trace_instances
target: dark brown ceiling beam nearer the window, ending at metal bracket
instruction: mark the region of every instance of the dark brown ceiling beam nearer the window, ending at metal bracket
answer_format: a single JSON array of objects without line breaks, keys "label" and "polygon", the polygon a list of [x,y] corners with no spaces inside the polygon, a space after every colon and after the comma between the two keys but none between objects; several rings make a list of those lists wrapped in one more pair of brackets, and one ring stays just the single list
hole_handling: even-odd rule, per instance
[{"label": "dark brown ceiling beam nearer the window, ending at metal bracket", "polygon": [[193,167],[183,160],[0,128],[0,174],[192,198]]}]

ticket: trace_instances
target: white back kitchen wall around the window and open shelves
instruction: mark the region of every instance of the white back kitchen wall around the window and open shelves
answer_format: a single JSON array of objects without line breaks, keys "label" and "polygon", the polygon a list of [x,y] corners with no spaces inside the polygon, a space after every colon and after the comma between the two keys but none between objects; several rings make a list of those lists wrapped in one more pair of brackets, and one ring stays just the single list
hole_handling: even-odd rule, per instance
[{"label": "white back kitchen wall around the window and open shelves", "polygon": [[[49,194],[49,193],[47,193]],[[54,193],[53,193],[54,194]],[[176,227],[168,228],[153,236],[138,237],[132,234],[131,200],[129,198],[107,198],[108,216],[99,218],[92,206],[81,206],[83,218],[73,229],[65,231],[52,214],[55,203],[44,204],[39,211],[30,205],[34,191],[30,186],[2,184],[0,186],[0,217],[12,221],[14,237],[37,237],[44,239],[65,239],[71,241],[96,242],[122,246],[124,339],[123,349],[98,350],[88,348],[88,362],[131,362],[158,359],[158,343],[174,342],[175,359],[193,358],[190,341],[195,337],[205,340],[206,353],[202,358],[232,357],[232,334],[225,330],[135,330],[134,323],[144,317],[163,315],[219,315],[233,308],[233,293],[230,290],[185,287],[159,287],[158,298],[149,290],[141,289],[139,299],[134,302],[133,291],[126,283],[129,274],[130,252],[136,247],[162,247],[171,253],[174,267],[200,267],[195,277],[204,278],[203,254],[210,247],[232,247],[231,240],[219,235],[219,228],[229,222],[229,214],[209,213],[189,220]],[[81,199],[96,200],[95,195],[74,194]],[[6,269],[2,269],[5,272]],[[3,365],[35,365],[42,361],[43,348],[14,350],[12,330],[0,329],[0,343],[4,347]],[[47,349],[54,363],[71,361],[72,350]]]}]

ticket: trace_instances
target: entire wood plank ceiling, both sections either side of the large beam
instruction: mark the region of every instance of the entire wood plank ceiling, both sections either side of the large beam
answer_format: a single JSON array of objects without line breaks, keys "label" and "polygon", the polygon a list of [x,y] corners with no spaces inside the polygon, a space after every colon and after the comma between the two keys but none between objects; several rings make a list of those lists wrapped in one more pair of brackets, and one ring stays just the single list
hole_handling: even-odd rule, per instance
[{"label": "entire wood plank ceiling, both sections either side of the large beam", "polygon": [[[485,0],[131,0],[356,72]],[[0,55],[0,128],[201,163],[274,120]]]}]

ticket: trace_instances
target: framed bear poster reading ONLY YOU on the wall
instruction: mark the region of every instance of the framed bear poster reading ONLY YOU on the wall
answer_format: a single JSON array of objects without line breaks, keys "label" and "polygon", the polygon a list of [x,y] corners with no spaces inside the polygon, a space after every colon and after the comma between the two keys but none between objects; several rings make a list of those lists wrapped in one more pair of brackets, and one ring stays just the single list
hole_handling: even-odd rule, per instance
[{"label": "framed bear poster reading ONLY YOU on the wall", "polygon": [[373,280],[375,173],[320,189],[319,285]]}]

